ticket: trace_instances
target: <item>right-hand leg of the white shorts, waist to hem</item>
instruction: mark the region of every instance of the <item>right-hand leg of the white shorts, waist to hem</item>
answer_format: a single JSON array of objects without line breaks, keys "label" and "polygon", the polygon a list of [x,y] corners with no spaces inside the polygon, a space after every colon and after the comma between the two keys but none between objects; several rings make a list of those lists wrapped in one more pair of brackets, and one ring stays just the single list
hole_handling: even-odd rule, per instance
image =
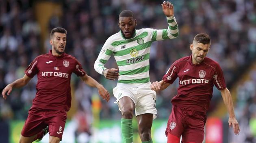
[{"label": "right-hand leg of the white shorts, waist to hem", "polygon": [[138,88],[135,115],[139,116],[142,114],[153,114],[153,118],[156,118],[156,92],[149,87]]}]

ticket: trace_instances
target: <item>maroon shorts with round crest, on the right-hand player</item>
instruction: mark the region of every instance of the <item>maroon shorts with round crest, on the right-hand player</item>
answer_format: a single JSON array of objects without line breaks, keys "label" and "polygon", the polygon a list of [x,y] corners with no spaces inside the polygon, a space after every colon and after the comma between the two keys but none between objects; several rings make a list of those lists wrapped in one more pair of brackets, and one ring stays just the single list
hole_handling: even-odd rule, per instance
[{"label": "maroon shorts with round crest, on the right-hand player", "polygon": [[204,124],[206,115],[187,108],[173,105],[165,135],[168,133],[177,137],[182,136],[182,143],[202,143],[204,140]]}]

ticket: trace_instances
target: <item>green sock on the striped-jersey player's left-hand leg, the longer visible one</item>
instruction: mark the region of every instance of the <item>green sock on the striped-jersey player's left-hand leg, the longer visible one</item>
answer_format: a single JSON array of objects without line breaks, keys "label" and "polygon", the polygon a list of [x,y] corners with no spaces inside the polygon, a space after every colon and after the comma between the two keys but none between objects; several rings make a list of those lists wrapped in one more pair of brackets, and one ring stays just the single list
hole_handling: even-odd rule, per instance
[{"label": "green sock on the striped-jersey player's left-hand leg, the longer visible one", "polygon": [[133,142],[132,119],[121,118],[121,132],[124,143]]}]

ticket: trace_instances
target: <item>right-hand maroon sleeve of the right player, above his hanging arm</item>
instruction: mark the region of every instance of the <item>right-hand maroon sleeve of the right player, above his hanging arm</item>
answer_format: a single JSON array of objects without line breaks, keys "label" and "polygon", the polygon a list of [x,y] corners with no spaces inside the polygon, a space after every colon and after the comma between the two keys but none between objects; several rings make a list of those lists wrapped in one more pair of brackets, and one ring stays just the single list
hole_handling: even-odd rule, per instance
[{"label": "right-hand maroon sleeve of the right player, above his hanging arm", "polygon": [[213,84],[219,89],[223,90],[226,88],[225,79],[223,76],[223,71],[219,64],[215,68],[215,74],[213,75]]}]

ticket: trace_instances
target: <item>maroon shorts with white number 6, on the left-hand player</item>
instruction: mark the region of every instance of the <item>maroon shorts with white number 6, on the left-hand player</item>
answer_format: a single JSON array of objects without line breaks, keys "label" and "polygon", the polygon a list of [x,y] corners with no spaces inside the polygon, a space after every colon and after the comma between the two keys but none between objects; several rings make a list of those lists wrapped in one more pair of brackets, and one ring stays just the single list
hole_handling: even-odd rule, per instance
[{"label": "maroon shorts with white number 6, on the left-hand player", "polygon": [[22,136],[31,137],[49,126],[49,135],[62,139],[67,119],[65,110],[31,108],[22,129]]}]

